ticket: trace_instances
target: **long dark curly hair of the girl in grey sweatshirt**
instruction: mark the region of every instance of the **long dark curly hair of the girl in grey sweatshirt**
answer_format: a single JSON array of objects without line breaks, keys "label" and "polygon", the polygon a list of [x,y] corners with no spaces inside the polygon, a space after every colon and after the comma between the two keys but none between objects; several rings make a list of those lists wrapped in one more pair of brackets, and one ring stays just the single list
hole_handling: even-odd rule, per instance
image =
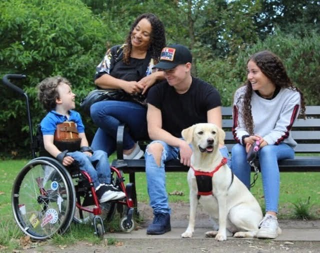
[{"label": "long dark curly hair of the girl in grey sweatshirt", "polygon": [[[272,83],[275,84],[276,87],[280,88],[289,88],[292,90],[297,90],[300,93],[300,115],[305,118],[305,102],[304,95],[302,91],[295,87],[288,77],[285,67],[281,61],[281,59],[275,55],[273,52],[264,50],[257,52],[251,55],[247,62],[250,60],[254,61],[254,63],[260,68],[262,73],[271,80]],[[252,86],[249,80],[246,80],[244,83],[246,86],[246,91],[243,96],[240,96],[236,101],[236,104],[240,102],[240,99],[243,99],[243,110],[242,110],[242,118],[245,124],[246,129],[248,130],[250,135],[253,135],[253,118],[251,114],[251,96],[252,96]]]}]

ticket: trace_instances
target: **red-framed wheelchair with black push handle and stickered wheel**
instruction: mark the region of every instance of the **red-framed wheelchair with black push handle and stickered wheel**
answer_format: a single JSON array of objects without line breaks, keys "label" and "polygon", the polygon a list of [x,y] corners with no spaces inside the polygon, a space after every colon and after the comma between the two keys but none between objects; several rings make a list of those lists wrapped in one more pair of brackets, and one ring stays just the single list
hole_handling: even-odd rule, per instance
[{"label": "red-framed wheelchair with black push handle and stickered wheel", "polygon": [[[120,229],[131,232],[135,226],[132,199],[135,199],[136,193],[133,192],[133,184],[125,185],[122,172],[111,166],[111,183],[121,189],[125,197],[100,204],[92,180],[85,171],[72,165],[64,167],[47,155],[44,148],[41,149],[39,134],[33,137],[27,94],[9,81],[25,77],[6,74],[2,78],[3,84],[26,98],[33,157],[20,170],[12,186],[12,211],[17,225],[36,240],[44,240],[55,233],[63,234],[72,221],[93,224],[95,234],[103,237],[103,220],[110,221],[118,211],[122,216]],[[36,152],[39,153],[38,157],[35,156]]]}]

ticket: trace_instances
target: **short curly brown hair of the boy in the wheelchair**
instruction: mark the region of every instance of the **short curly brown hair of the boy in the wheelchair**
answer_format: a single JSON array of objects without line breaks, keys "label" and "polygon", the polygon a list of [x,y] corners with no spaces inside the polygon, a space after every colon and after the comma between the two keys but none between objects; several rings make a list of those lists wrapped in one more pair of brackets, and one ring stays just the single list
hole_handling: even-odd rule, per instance
[{"label": "short curly brown hair of the boy in the wheelchair", "polygon": [[47,111],[55,109],[55,100],[59,98],[57,86],[60,83],[65,83],[71,87],[71,83],[59,75],[46,77],[36,85],[38,89],[38,99]]}]

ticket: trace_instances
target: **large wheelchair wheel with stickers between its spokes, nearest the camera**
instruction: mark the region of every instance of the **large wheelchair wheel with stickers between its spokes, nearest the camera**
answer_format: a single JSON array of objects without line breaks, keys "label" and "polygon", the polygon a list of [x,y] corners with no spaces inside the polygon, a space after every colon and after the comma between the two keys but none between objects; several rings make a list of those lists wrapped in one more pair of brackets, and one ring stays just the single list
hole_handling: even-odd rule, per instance
[{"label": "large wheelchair wheel with stickers between its spokes, nearest the camera", "polygon": [[17,175],[11,201],[16,223],[31,238],[46,239],[56,232],[62,234],[74,215],[72,179],[55,159],[35,158]]}]

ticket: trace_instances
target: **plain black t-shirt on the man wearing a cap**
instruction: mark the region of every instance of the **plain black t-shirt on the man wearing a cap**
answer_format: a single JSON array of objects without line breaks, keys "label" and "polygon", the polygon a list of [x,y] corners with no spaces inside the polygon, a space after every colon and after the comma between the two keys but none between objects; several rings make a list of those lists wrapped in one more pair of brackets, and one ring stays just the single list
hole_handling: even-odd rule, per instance
[{"label": "plain black t-shirt on the man wearing a cap", "polygon": [[150,88],[146,101],[161,110],[162,129],[175,137],[192,124],[207,122],[207,111],[221,105],[219,92],[196,77],[183,94],[161,81]]}]

